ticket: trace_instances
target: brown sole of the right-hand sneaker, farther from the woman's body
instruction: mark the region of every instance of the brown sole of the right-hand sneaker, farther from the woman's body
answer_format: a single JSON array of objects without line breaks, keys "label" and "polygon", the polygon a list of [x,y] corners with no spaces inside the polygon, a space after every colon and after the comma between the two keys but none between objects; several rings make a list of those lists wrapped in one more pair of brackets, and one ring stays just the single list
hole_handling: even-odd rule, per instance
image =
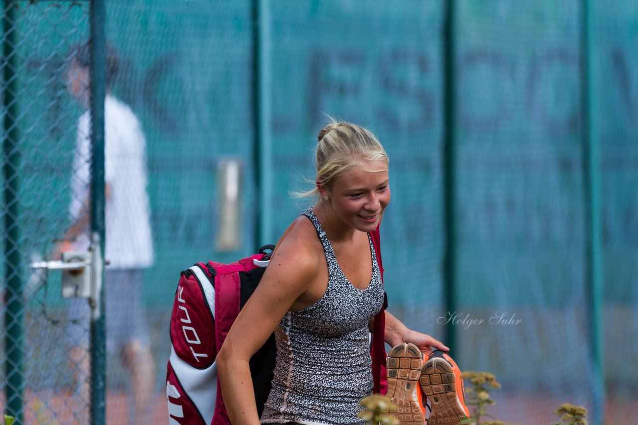
[{"label": "brown sole of the right-hand sneaker, farther from the woman's body", "polygon": [[428,425],[459,424],[468,419],[456,393],[454,369],[447,360],[435,357],[426,361],[419,383],[432,404]]}]

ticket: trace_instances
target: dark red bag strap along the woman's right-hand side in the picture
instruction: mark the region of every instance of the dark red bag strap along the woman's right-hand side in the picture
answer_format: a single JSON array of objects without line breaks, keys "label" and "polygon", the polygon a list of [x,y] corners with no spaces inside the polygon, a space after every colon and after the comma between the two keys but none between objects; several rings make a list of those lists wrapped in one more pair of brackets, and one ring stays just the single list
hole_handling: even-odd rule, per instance
[{"label": "dark red bag strap along the woman's right-hand side in the picture", "polygon": [[[379,226],[380,227],[380,226]],[[381,271],[381,281],[383,282],[383,263],[381,261],[381,238],[379,227],[370,233],[372,244],[375,247],[376,262]],[[387,393],[387,375],[385,371],[385,311],[381,311],[375,316],[375,327],[372,333],[372,378],[374,382],[373,392],[378,394]]]}]

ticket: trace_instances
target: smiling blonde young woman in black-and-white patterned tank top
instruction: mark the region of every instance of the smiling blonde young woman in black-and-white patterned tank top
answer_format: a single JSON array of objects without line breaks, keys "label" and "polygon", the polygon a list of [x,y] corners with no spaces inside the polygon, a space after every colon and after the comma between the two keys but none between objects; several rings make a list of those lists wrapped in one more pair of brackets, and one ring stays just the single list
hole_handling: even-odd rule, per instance
[{"label": "smiling blonde young woman in black-and-white patterned tank top", "polygon": [[[281,236],[217,356],[235,425],[363,423],[359,401],[373,388],[368,333],[383,305],[369,232],[390,202],[388,156],[366,129],[332,121],[318,135],[315,162],[318,202]],[[385,317],[390,346],[448,350]],[[260,418],[248,362],[273,331],[277,364]]]}]

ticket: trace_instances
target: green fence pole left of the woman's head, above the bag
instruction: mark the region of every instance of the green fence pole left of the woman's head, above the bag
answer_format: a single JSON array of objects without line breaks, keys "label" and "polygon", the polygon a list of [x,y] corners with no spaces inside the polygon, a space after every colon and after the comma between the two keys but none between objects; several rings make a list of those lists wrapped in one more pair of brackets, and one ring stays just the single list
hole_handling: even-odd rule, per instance
[{"label": "green fence pole left of the woman's head, above the bag", "polygon": [[253,48],[255,56],[255,164],[256,248],[272,243],[272,97],[271,97],[271,11],[269,0],[253,2]]}]

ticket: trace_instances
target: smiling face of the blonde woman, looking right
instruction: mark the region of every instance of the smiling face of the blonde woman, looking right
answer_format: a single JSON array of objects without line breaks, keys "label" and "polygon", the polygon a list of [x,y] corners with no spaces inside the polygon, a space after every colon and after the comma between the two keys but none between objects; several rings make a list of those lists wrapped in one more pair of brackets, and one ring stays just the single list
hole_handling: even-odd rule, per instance
[{"label": "smiling face of the blonde woman, looking right", "polygon": [[346,169],[336,178],[334,185],[325,192],[339,219],[359,231],[376,229],[390,202],[387,168],[383,161],[364,162]]}]

